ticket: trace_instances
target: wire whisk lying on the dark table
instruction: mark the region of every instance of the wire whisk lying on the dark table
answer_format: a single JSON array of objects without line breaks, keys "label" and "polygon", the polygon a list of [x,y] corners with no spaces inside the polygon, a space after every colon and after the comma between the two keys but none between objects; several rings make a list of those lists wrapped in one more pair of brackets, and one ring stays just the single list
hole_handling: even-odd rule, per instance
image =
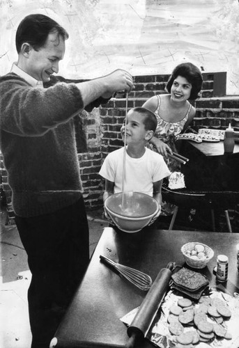
[{"label": "wire whisk lying on the dark table", "polygon": [[121,274],[125,279],[129,280],[130,283],[139,287],[143,291],[148,291],[152,285],[152,279],[148,274],[145,274],[137,269],[124,266],[107,258],[106,256],[100,255],[100,260],[107,264],[110,264],[119,274]]}]

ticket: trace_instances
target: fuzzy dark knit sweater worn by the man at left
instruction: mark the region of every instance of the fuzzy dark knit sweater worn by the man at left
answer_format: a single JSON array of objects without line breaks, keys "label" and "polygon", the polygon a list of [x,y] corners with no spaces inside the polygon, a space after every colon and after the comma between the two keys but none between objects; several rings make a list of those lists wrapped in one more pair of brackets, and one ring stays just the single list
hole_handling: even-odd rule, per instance
[{"label": "fuzzy dark knit sweater worn by the man at left", "polygon": [[0,147],[18,216],[49,214],[82,196],[72,118],[83,108],[75,84],[37,88],[14,73],[1,77]]}]

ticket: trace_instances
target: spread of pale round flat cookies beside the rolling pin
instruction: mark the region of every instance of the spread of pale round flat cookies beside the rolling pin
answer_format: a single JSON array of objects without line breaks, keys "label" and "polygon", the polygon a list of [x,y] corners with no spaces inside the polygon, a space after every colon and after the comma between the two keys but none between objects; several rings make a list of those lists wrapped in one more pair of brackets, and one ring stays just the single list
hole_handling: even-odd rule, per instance
[{"label": "spread of pale round flat cookies beside the rolling pin", "polygon": [[230,317],[226,302],[201,296],[196,305],[190,299],[179,299],[169,309],[167,322],[176,348],[193,348],[199,342],[210,343],[215,338],[230,340],[231,334],[224,323]]}]

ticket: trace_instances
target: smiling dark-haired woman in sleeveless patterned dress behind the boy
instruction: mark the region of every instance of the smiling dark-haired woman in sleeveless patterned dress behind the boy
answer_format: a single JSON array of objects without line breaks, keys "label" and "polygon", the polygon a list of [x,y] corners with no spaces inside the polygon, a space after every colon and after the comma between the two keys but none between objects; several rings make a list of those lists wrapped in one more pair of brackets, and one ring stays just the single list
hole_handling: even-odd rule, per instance
[{"label": "smiling dark-haired woman in sleeveless patterned dress behind the boy", "polygon": [[[174,68],[167,82],[169,94],[155,95],[143,105],[157,117],[157,129],[150,141],[151,147],[164,156],[172,173],[180,171],[180,164],[171,159],[168,153],[176,152],[175,136],[185,132],[195,116],[196,110],[189,100],[199,97],[202,83],[199,68],[192,63],[182,63]],[[173,212],[174,209],[169,205],[162,205],[162,214],[170,215]]]}]

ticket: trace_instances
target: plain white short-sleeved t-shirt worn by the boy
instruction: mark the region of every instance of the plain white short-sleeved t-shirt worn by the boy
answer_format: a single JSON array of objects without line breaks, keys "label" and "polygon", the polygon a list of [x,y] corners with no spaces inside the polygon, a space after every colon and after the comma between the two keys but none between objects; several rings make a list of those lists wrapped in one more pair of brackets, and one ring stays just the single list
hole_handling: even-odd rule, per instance
[{"label": "plain white short-sleeved t-shirt worn by the boy", "polygon": [[[105,158],[99,174],[114,182],[114,193],[122,192],[124,148],[120,148]],[[145,148],[144,155],[132,158],[125,153],[125,187],[124,191],[135,191],[153,196],[153,182],[170,175],[162,155]]]}]

